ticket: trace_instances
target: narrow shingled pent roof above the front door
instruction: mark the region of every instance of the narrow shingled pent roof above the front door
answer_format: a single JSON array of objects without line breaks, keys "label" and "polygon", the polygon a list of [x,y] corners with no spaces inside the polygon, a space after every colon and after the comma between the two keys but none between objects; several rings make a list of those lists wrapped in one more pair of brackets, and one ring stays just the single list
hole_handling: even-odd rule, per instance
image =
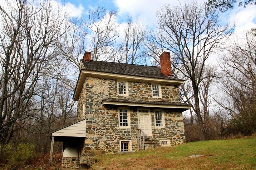
[{"label": "narrow shingled pent roof above the front door", "polygon": [[[134,100],[134,99],[121,99],[121,98],[107,98],[103,101],[109,102],[125,102],[125,103],[140,103],[140,104],[156,104],[156,105],[175,105],[175,106],[192,106],[181,102],[170,102],[170,101],[149,101],[149,100]],[[101,102],[101,103],[102,103]]]}]

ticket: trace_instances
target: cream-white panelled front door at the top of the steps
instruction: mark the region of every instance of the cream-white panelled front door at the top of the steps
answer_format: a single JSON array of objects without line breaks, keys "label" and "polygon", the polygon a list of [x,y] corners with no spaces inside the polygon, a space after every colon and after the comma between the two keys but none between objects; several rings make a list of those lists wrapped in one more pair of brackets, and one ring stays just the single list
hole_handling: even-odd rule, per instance
[{"label": "cream-white panelled front door at the top of the steps", "polygon": [[150,114],[139,113],[139,125],[140,129],[144,131],[147,136],[151,136],[151,123]]}]

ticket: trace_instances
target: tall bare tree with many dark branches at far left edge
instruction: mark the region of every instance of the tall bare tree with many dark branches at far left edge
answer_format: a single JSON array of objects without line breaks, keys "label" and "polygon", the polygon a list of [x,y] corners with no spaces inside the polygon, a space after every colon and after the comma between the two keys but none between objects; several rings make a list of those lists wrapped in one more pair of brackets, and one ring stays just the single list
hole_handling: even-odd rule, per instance
[{"label": "tall bare tree with many dark branches at far left edge", "polygon": [[6,144],[17,121],[37,110],[37,82],[63,32],[63,16],[49,1],[7,2],[0,6],[0,135]]}]

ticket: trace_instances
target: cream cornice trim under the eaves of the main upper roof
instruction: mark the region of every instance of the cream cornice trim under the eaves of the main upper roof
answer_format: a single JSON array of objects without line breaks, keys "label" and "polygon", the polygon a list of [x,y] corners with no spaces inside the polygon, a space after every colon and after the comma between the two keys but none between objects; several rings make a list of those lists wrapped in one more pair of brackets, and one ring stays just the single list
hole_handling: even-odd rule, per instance
[{"label": "cream cornice trim under the eaves of the main upper roof", "polygon": [[141,76],[129,76],[129,75],[123,75],[123,74],[106,73],[106,72],[100,72],[100,71],[88,71],[88,70],[81,69],[78,77],[78,81],[76,84],[76,89],[73,95],[73,100],[75,101],[77,101],[79,98],[80,90],[84,84],[84,80],[86,76],[122,79],[122,80],[128,80],[128,81],[136,80],[141,82],[171,84],[171,85],[181,85],[184,82],[184,80],[170,80],[170,79],[150,78],[150,77],[141,77]]}]

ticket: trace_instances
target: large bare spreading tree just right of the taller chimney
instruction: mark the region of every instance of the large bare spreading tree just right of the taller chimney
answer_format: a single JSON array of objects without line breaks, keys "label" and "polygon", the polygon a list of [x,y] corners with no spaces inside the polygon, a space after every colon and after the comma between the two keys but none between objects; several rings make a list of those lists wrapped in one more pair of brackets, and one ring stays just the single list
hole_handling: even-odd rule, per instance
[{"label": "large bare spreading tree just right of the taller chimney", "polygon": [[175,7],[165,5],[157,12],[158,34],[149,41],[159,49],[170,50],[178,60],[173,66],[190,80],[193,88],[193,111],[197,115],[201,140],[206,140],[204,122],[200,111],[199,84],[203,79],[205,61],[214,50],[223,48],[234,27],[223,25],[217,11],[197,2]]}]

